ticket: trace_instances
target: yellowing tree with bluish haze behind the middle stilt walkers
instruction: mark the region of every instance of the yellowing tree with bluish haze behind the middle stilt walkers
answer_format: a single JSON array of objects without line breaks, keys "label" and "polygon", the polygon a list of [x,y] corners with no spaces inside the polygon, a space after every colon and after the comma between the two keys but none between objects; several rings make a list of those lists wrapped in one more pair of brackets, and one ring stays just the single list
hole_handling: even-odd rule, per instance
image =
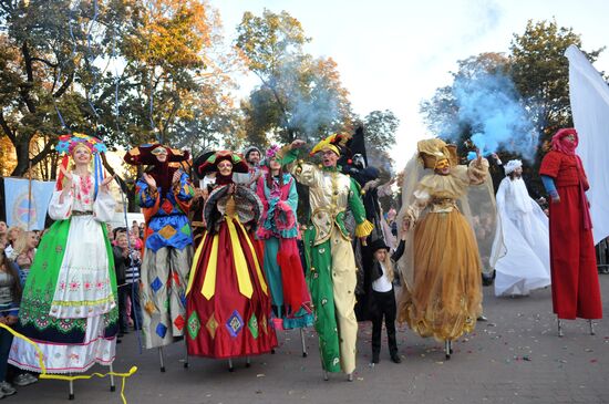
[{"label": "yellowing tree with bluish haze behind the middle stilt walkers", "polygon": [[310,40],[297,19],[286,11],[246,12],[237,30],[236,44],[261,82],[241,106],[250,143],[314,141],[347,127],[351,106],[337,64],[302,51]]}]

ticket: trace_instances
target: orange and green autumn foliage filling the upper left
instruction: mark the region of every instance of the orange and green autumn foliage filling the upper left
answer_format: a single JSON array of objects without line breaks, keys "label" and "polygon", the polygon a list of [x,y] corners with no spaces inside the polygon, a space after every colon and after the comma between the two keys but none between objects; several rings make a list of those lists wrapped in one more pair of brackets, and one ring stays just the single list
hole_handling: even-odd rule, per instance
[{"label": "orange and green autumn foliage filling the upper left", "polygon": [[[13,175],[68,131],[58,111],[109,146],[158,138],[197,151],[238,132],[230,73],[242,63],[223,48],[204,0],[2,1],[0,21],[0,124],[17,149]],[[48,147],[32,147],[34,137]]]}]

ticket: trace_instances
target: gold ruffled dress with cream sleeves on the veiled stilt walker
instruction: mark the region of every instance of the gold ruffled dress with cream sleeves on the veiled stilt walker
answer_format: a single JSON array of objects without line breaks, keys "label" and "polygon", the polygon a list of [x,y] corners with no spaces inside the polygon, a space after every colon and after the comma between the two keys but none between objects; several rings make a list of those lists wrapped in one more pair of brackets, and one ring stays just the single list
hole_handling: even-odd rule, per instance
[{"label": "gold ruffled dress with cream sleeves on the veiled stilt walker", "polygon": [[[413,273],[400,301],[399,321],[421,336],[455,340],[482,314],[482,263],[472,226],[457,208],[469,185],[484,183],[488,162],[423,177],[405,219],[413,228]],[[419,220],[419,221],[417,221]]]}]

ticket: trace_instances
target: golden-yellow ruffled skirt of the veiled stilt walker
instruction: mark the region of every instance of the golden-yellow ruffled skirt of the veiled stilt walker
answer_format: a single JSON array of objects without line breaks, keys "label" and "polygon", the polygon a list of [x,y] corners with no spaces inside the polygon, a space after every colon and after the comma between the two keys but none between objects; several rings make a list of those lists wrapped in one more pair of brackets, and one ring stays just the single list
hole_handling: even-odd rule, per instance
[{"label": "golden-yellow ruffled skirt of the veiled stilt walker", "polygon": [[413,283],[402,294],[399,321],[440,341],[473,331],[482,313],[482,265],[465,217],[456,209],[429,214],[414,229],[413,247]]}]

